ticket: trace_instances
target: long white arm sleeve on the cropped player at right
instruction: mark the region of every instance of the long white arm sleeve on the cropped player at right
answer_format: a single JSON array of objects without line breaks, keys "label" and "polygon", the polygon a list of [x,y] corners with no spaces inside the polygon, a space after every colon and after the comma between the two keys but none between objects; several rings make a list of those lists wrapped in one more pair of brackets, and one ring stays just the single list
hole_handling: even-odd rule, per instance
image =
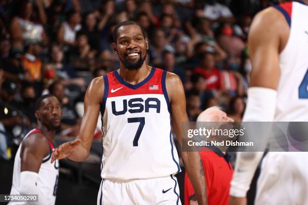
[{"label": "long white arm sleeve on the cropped player at right", "polygon": [[[276,108],[277,92],[265,87],[250,87],[243,121],[272,122]],[[238,152],[230,195],[246,197],[252,178],[263,152]]]}]

